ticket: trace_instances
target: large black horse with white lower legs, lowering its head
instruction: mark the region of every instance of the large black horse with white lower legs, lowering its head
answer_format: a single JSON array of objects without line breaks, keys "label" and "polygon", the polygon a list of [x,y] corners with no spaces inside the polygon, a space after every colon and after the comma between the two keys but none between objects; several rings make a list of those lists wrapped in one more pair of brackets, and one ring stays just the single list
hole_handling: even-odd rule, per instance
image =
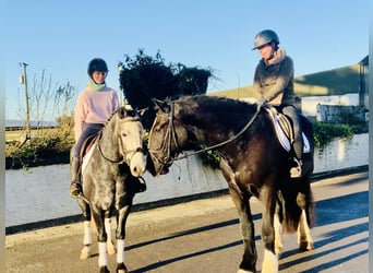
[{"label": "large black horse with white lower legs, lowering its head", "polygon": [[[238,210],[243,237],[243,258],[238,272],[255,272],[257,253],[250,198],[263,204],[262,272],[278,272],[280,234],[298,229],[302,250],[313,248],[310,226],[313,200],[310,176],[313,171],[312,124],[302,117],[311,150],[303,155],[302,177],[290,178],[292,159],[276,139],[275,128],[264,109],[236,99],[188,96],[158,102],[148,140],[148,170],[158,176],[182,151],[214,149],[220,169]],[[188,156],[188,155],[185,155]],[[184,156],[183,156],[184,157]]]}]

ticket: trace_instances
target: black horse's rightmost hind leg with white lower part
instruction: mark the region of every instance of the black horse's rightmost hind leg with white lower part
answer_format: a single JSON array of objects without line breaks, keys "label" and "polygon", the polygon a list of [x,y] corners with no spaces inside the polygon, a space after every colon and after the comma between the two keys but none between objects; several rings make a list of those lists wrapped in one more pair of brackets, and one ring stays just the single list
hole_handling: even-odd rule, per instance
[{"label": "black horse's rightmost hind leg with white lower part", "polygon": [[298,225],[298,246],[299,249],[302,251],[312,250],[313,239],[311,236],[309,217],[306,215],[306,211],[309,210],[311,204],[310,202],[308,202],[306,195],[304,193],[298,193],[297,203],[302,210]]}]

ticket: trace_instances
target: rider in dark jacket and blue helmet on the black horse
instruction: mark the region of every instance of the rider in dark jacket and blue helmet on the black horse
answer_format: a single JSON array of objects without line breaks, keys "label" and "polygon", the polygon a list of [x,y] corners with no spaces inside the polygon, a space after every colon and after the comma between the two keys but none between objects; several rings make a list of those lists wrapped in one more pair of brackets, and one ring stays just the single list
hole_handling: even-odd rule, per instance
[{"label": "rider in dark jacket and blue helmet on the black horse", "polygon": [[254,49],[257,49],[262,59],[255,69],[254,93],[260,94],[258,107],[265,103],[281,105],[282,114],[293,123],[294,141],[292,143],[297,167],[290,169],[292,178],[301,177],[302,166],[302,128],[299,120],[294,99],[294,69],[292,59],[278,47],[279,38],[274,31],[265,29],[255,36]]}]

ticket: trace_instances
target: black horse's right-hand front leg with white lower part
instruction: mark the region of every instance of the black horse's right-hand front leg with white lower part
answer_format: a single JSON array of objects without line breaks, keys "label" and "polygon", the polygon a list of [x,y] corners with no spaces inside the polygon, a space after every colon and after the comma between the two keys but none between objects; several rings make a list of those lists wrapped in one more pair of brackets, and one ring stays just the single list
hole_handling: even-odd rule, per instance
[{"label": "black horse's right-hand front leg with white lower part", "polygon": [[[263,273],[278,272],[278,258],[275,252],[275,226],[274,215],[276,209],[276,194],[269,187],[263,187],[260,200],[264,204],[262,214],[262,239],[264,242],[264,257],[262,263]],[[279,232],[279,230],[277,230]]]}]

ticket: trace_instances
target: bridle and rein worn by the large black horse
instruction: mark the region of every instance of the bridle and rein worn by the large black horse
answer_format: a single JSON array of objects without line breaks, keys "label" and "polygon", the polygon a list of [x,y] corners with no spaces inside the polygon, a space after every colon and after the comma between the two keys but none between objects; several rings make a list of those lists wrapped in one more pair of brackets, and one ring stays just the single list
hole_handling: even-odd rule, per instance
[{"label": "bridle and rein worn by the large black horse", "polygon": [[[182,153],[182,151],[179,149],[178,138],[177,138],[177,133],[175,130],[175,124],[173,124],[175,103],[171,102],[170,111],[167,114],[168,115],[168,126],[167,126],[167,131],[165,134],[165,139],[163,141],[163,144],[161,144],[159,150],[149,150],[148,153],[149,153],[152,159],[156,161],[157,163],[159,163],[161,165],[170,166],[176,161],[180,161],[180,159],[186,158],[191,155],[200,154],[200,153],[203,153],[206,151],[210,151],[210,150],[224,146],[224,145],[237,140],[239,136],[241,136],[251,127],[251,124],[254,122],[254,120],[256,119],[260,111],[261,111],[261,108],[257,108],[255,114],[249,120],[249,122],[241,129],[241,131],[239,131],[232,138],[229,138],[228,140],[222,141],[222,142],[217,143],[217,144],[212,145],[212,146],[207,146],[207,147],[204,147],[204,149],[191,152],[191,153],[184,153],[184,155],[182,155],[182,156],[172,157],[171,156],[172,141],[173,141],[173,144],[175,144],[175,147],[177,151],[175,154],[179,155]],[[166,156],[163,158],[159,158],[156,156],[157,154],[165,154]]]}]

